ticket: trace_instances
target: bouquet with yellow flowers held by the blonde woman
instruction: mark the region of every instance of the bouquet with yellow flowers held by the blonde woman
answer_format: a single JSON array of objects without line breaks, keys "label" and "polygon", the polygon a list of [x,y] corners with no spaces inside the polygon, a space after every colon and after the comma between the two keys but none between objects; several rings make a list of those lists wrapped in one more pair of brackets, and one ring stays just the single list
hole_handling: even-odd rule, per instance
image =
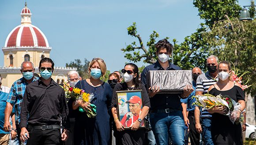
[{"label": "bouquet with yellow flowers held by the blonde woman", "polygon": [[[72,98],[73,100],[75,100],[75,104],[77,104],[79,100],[81,100],[83,103],[88,103],[92,99],[94,99],[94,94],[88,94],[83,89],[70,87],[69,85],[67,85],[67,83],[64,83],[64,87],[62,88],[65,91],[66,98]],[[96,106],[94,104],[90,104],[90,108],[90,110],[85,110],[84,108],[79,106],[79,111],[86,112],[89,118],[94,118],[97,115]]]}]

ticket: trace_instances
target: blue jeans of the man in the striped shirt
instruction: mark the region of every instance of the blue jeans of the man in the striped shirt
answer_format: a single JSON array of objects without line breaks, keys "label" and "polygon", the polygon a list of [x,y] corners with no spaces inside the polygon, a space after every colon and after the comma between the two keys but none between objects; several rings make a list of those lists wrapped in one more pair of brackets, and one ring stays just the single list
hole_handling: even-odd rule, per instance
[{"label": "blue jeans of the man in the striped shirt", "polygon": [[214,145],[211,139],[211,119],[202,118],[203,141],[204,145]]}]

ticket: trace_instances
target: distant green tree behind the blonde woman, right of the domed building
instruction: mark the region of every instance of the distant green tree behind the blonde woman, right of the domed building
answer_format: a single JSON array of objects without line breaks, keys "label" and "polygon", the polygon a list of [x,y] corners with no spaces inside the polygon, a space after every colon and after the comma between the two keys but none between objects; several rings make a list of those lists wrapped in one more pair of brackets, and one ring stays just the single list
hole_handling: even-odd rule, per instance
[{"label": "distant green tree behind the blonde woman, right of the domed building", "polygon": [[75,61],[71,61],[70,63],[66,63],[66,67],[73,67],[76,68],[79,75],[85,79],[89,76],[88,74],[88,67],[89,67],[89,61],[84,58],[84,63],[80,59],[75,59]]}]

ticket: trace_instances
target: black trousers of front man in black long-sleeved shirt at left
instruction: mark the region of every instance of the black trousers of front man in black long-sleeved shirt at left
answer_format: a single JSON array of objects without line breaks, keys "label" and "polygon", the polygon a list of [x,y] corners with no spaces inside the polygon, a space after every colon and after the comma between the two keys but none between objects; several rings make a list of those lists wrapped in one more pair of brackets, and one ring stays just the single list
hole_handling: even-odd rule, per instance
[{"label": "black trousers of front man in black long-sleeved shirt at left", "polygon": [[61,145],[60,129],[36,130],[28,129],[27,145]]}]

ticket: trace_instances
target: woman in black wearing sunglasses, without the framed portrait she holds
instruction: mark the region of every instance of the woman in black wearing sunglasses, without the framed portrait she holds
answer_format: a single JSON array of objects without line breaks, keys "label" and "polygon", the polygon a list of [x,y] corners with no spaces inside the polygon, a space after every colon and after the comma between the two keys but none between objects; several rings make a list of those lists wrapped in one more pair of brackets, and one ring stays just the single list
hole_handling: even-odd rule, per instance
[{"label": "woman in black wearing sunglasses, without the framed portrait she holds", "polygon": [[[124,83],[118,83],[113,90],[113,98],[111,103],[111,111],[114,118],[115,127],[114,136],[116,137],[117,145],[143,145],[145,143],[145,128],[139,128],[139,124],[147,116],[150,109],[150,100],[147,94],[146,88],[139,81],[139,69],[138,66],[133,63],[128,63],[122,69],[124,73]],[[131,91],[142,90],[143,95],[143,108],[138,118],[131,124],[131,129],[124,130],[124,125],[120,123],[121,120],[117,116],[117,98],[116,91]]]}]

